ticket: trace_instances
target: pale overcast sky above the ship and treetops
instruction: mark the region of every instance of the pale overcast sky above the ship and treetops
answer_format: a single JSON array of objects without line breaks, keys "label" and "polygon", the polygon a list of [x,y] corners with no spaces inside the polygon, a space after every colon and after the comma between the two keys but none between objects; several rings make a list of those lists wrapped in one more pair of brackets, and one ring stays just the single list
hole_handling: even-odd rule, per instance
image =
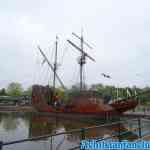
[{"label": "pale overcast sky above the ship and treetops", "polygon": [[68,87],[79,82],[80,53],[66,40],[79,45],[71,33],[81,30],[93,47],[84,50],[96,60],[87,58],[87,84],[149,86],[149,6],[149,0],[0,0],[0,88],[51,84],[53,74],[41,65],[37,45],[53,63],[56,35],[58,74]]}]

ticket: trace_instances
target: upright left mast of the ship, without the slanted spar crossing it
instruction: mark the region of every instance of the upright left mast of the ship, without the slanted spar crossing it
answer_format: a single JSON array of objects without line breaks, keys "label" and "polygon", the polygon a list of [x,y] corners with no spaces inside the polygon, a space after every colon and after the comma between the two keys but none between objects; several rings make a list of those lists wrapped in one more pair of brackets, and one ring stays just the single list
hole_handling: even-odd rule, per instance
[{"label": "upright left mast of the ship, without the slanted spar crossing it", "polygon": [[53,92],[54,92],[54,94],[55,94],[56,71],[57,71],[57,48],[58,48],[58,37],[56,36],[56,42],[55,42],[55,60],[54,60],[54,80],[53,80]]}]

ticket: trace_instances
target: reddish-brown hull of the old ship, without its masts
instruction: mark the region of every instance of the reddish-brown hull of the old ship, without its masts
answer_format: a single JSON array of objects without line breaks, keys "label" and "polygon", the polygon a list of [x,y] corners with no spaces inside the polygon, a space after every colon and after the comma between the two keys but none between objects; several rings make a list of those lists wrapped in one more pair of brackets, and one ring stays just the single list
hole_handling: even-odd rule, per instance
[{"label": "reddish-brown hull of the old ship, without its masts", "polygon": [[38,85],[33,86],[32,104],[40,112],[105,116],[123,113],[127,110],[134,109],[137,105],[137,101],[133,99],[116,101],[112,104],[104,104],[94,97],[93,94],[85,92],[72,99],[70,104],[55,108],[47,104],[47,99],[50,96],[51,92],[49,88]]}]

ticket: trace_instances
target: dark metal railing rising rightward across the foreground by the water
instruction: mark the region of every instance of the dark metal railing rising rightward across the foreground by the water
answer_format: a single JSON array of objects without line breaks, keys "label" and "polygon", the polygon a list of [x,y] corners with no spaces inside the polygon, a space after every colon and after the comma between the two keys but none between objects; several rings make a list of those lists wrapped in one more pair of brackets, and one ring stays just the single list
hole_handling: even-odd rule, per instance
[{"label": "dark metal railing rising rightward across the foreground by the water", "polygon": [[[80,133],[80,135],[81,135],[80,140],[85,140],[85,139],[89,140],[90,138],[86,138],[86,132],[87,131],[89,131],[91,129],[101,128],[101,127],[111,127],[113,125],[118,125],[119,130],[117,132],[113,133],[112,135],[110,135],[108,137],[104,137],[104,138],[92,137],[91,139],[95,139],[97,142],[99,142],[99,141],[105,141],[105,140],[113,139],[114,137],[117,137],[118,141],[121,141],[122,136],[124,136],[124,135],[126,135],[130,132],[136,132],[137,135],[138,135],[137,140],[140,140],[140,139],[144,139],[144,137],[150,135],[150,132],[146,132],[146,134],[142,134],[142,130],[146,129],[146,126],[142,125],[142,120],[150,123],[149,119],[144,119],[144,118],[138,117],[138,118],[135,118],[135,119],[119,120],[119,121],[112,122],[112,123],[106,123],[106,124],[101,124],[101,125],[98,125],[98,126],[91,126],[91,127],[87,127],[87,128],[74,129],[74,130],[71,130],[71,131],[65,131],[65,132],[60,132],[60,133],[56,133],[56,134],[47,134],[47,135],[42,135],[42,136],[37,136],[37,137],[32,137],[32,138],[14,140],[14,141],[10,141],[10,142],[0,141],[0,150],[3,150],[3,148],[5,146],[8,146],[8,145],[24,143],[24,142],[29,142],[29,141],[40,141],[40,140],[46,139],[46,138],[52,138],[52,137],[55,137],[55,136],[68,135],[68,134],[73,134],[73,133]],[[134,127],[134,128],[131,128],[127,131],[122,132],[121,128],[120,128],[120,125],[123,124],[123,123],[128,123],[129,121],[131,121],[131,122],[137,121],[137,127]],[[80,144],[78,146],[75,146],[75,147],[70,148],[68,150],[76,150],[76,149],[80,149]]]}]

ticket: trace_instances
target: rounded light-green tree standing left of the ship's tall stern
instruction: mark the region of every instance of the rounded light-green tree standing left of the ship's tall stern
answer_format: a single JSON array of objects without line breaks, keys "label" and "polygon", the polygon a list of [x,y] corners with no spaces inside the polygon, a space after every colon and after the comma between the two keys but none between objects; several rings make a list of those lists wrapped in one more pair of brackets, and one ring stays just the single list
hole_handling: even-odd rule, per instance
[{"label": "rounded light-green tree standing left of the ship's tall stern", "polygon": [[23,88],[20,83],[12,82],[7,87],[7,93],[10,96],[20,96],[23,93]]}]

